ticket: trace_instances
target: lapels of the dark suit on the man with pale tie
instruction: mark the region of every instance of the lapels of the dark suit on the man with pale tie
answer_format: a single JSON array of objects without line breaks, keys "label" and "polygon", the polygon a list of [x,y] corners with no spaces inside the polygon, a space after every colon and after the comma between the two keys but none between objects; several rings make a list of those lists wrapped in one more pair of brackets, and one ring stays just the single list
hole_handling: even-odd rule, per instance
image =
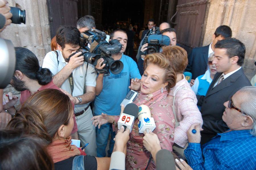
[{"label": "lapels of the dark suit on the man with pale tie", "polygon": [[235,82],[238,79],[238,77],[240,77],[240,75],[242,73],[243,73],[243,69],[241,68],[237,72],[228,76],[228,78],[225,78],[220,84],[218,84],[214,88],[212,88],[214,86],[214,84],[216,83],[216,81],[218,80],[218,78],[220,77],[220,75],[222,74],[222,73],[216,73],[216,75],[214,76],[214,79],[212,80],[212,83],[207,91],[206,96],[210,96],[211,94],[214,94],[214,93],[232,85],[232,83]]}]

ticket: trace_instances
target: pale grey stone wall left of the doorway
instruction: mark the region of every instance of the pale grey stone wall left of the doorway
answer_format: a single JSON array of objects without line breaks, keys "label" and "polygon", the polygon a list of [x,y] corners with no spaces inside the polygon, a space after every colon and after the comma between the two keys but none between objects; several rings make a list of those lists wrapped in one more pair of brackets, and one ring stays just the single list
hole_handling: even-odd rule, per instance
[{"label": "pale grey stone wall left of the doorway", "polygon": [[[0,38],[13,42],[15,47],[30,49],[42,66],[44,56],[51,51],[50,29],[46,0],[7,0],[9,6],[26,10],[26,24],[11,24],[0,33]],[[4,92],[13,92],[19,96],[10,85]]]}]

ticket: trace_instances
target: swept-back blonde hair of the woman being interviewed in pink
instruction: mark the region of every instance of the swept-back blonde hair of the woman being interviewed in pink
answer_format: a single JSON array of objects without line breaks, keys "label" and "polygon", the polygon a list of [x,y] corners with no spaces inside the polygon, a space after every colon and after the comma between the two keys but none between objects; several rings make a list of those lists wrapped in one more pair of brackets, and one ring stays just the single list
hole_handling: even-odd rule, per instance
[{"label": "swept-back blonde hair of the woman being interviewed in pink", "polygon": [[165,70],[163,81],[168,82],[166,89],[169,92],[170,88],[176,85],[176,73],[173,67],[170,65],[169,59],[161,53],[152,53],[146,55],[144,59],[144,70],[146,70],[149,64],[157,65]]}]

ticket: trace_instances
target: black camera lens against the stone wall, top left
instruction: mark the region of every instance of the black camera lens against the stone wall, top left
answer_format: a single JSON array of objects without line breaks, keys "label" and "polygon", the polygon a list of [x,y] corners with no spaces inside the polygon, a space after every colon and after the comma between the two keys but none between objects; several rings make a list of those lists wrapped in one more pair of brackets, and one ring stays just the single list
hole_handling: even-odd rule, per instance
[{"label": "black camera lens against the stone wall, top left", "polygon": [[10,13],[13,14],[11,18],[13,24],[26,23],[26,11],[20,8],[11,7]]}]

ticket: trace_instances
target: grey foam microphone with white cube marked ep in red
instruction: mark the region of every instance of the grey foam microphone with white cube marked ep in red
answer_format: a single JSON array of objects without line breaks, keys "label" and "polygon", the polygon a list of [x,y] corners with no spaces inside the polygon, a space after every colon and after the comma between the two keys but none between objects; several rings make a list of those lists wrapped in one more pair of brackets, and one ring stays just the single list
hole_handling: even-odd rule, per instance
[{"label": "grey foam microphone with white cube marked ep in red", "polygon": [[126,128],[130,129],[130,132],[133,128],[134,120],[137,118],[139,112],[139,108],[134,103],[129,103],[125,106],[123,113],[121,113],[119,120],[117,122],[118,129],[124,126],[124,130]]}]

